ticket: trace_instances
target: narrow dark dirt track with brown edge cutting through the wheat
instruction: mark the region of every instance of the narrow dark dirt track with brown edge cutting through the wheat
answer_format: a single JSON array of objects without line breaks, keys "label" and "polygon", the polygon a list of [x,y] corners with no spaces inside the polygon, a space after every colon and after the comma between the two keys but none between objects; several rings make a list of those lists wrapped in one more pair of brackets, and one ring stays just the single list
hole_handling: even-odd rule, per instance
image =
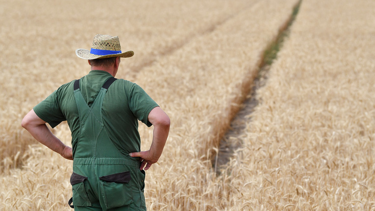
[{"label": "narrow dark dirt track with brown edge cutting through the wheat", "polygon": [[285,37],[288,36],[289,28],[298,14],[301,2],[302,0],[293,8],[290,19],[281,27],[275,41],[264,50],[263,60],[259,66],[258,77],[254,79],[252,89],[242,103],[241,109],[233,118],[229,130],[220,140],[219,152],[216,154],[215,160],[212,161],[212,166],[217,174],[220,174],[220,170],[225,168],[226,164],[233,156],[233,153],[242,146],[243,138],[246,137],[246,131],[248,130],[247,124],[251,122],[251,114],[258,105],[257,90],[266,84],[268,70],[273,60],[276,59]]}]

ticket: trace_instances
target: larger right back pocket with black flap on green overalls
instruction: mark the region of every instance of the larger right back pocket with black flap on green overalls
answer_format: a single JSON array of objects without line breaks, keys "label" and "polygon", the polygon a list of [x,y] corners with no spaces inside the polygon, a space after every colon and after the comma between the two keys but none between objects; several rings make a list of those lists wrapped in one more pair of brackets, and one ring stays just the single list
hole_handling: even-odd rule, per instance
[{"label": "larger right back pocket with black flap on green overalls", "polygon": [[130,172],[120,172],[99,177],[101,191],[107,209],[133,203]]}]

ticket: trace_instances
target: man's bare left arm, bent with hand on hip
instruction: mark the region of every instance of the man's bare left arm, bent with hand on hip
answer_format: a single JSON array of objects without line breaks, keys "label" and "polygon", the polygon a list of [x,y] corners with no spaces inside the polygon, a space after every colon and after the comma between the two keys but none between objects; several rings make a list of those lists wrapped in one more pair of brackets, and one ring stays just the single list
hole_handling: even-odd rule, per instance
[{"label": "man's bare left arm, bent with hand on hip", "polygon": [[73,160],[72,148],[61,142],[60,139],[49,130],[46,122],[36,115],[33,109],[23,118],[21,125],[38,142],[57,152],[62,157]]}]

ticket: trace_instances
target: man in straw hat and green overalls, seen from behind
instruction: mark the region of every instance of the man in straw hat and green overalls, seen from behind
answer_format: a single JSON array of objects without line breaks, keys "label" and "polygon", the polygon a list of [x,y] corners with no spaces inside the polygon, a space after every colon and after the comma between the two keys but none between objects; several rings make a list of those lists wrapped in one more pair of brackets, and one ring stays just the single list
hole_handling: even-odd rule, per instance
[{"label": "man in straw hat and green overalls, seen from behind", "polygon": [[[77,49],[89,60],[89,74],[63,84],[37,104],[22,127],[43,145],[74,160],[71,184],[75,210],[145,210],[145,172],[162,154],[169,117],[137,84],[116,79],[121,52],[118,37],[96,35],[91,50]],[[154,125],[148,151],[140,152],[138,120]],[[52,128],[67,121],[72,148]],[[143,170],[144,169],[144,170]],[[73,207],[72,206],[72,207]]]}]

